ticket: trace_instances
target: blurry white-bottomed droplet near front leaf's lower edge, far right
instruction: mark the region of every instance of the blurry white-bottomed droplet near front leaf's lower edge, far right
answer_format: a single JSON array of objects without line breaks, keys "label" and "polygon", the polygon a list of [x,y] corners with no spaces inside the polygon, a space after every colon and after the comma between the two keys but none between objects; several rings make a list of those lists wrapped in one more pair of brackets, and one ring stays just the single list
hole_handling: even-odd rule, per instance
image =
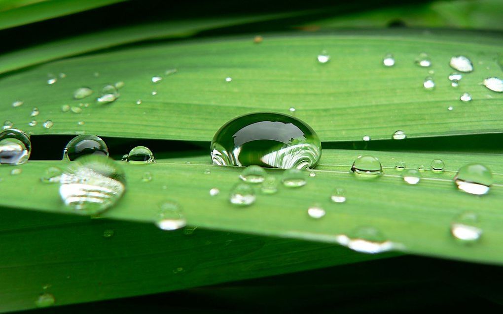
[{"label": "blurry white-bottomed droplet near front leaf's lower edge, far right", "polygon": [[451,223],[451,234],[463,244],[477,242],[482,236],[478,216],[472,212],[464,212],[455,217]]}]

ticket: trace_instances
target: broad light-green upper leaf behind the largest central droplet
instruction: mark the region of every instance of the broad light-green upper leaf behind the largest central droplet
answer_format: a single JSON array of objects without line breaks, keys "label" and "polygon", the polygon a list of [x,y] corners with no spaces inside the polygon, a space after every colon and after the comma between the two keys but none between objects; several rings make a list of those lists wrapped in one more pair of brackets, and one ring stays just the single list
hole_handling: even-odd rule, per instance
[{"label": "broad light-green upper leaf behind the largest central droplet", "polygon": [[[364,135],[390,139],[396,130],[409,138],[501,132],[501,94],[480,85],[500,73],[495,61],[503,45],[499,39],[449,32],[351,34],[270,36],[261,44],[252,37],[158,43],[55,61],[4,77],[0,115],[36,135],[87,132],[195,141],[209,141],[238,115],[288,113],[291,107],[325,142]],[[326,64],[316,62],[322,49],[332,58]],[[430,54],[432,68],[414,65],[423,51]],[[382,65],[388,52],[396,59],[391,68]],[[453,72],[450,57],[460,53],[472,59],[475,71],[463,75],[458,89],[447,77]],[[178,72],[152,83],[152,76],[164,76],[172,68]],[[67,77],[47,84],[47,74],[59,72]],[[100,75],[94,77],[94,72]],[[434,90],[423,88],[429,75],[435,78]],[[117,81],[125,82],[120,98],[97,103],[100,89]],[[95,93],[73,100],[73,91],[81,86]],[[471,102],[459,100],[464,91],[471,93]],[[10,106],[16,100],[24,101],[23,106]],[[61,110],[64,104],[79,103],[89,103],[81,114]],[[30,128],[33,107],[40,109],[39,123]],[[44,129],[45,120],[54,126]],[[85,125],[77,125],[80,121]]]}]

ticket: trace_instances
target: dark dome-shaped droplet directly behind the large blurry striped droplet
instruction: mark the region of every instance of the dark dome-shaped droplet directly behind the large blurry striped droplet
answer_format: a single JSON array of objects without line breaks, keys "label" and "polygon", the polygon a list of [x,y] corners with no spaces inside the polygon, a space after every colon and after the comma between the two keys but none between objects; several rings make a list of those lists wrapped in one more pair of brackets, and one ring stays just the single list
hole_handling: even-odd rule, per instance
[{"label": "dark dome-shaped droplet directly behind the large blurry striped droplet", "polygon": [[75,160],[84,155],[108,156],[107,144],[96,135],[82,134],[70,140],[63,151],[63,159],[67,160]]}]

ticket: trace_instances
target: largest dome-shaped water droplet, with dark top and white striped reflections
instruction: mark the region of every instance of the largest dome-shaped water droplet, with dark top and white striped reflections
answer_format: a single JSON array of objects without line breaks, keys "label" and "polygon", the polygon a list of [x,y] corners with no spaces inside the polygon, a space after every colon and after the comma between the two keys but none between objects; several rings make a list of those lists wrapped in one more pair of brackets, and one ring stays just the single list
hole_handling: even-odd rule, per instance
[{"label": "largest dome-shaped water droplet, with dark top and white striped reflections", "polygon": [[221,166],[312,168],[321,142],[304,122],[276,113],[255,113],[223,125],[211,142],[213,163]]}]

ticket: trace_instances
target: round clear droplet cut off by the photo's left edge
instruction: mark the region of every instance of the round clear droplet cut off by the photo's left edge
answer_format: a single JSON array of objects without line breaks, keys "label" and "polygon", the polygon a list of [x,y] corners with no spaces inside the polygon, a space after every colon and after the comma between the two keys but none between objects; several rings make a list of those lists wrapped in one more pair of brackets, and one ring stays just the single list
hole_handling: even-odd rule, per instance
[{"label": "round clear droplet cut off by the photo's left edge", "polygon": [[25,132],[18,129],[0,132],[0,164],[23,164],[30,158],[30,154],[30,137]]}]

